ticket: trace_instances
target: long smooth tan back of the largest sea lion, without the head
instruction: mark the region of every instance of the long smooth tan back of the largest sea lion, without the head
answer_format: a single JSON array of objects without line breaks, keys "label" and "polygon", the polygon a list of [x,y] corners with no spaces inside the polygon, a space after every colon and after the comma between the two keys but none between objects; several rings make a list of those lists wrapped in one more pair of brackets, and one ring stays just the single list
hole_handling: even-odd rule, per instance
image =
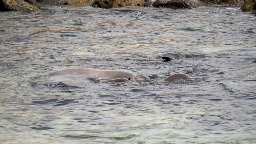
[{"label": "long smooth tan back of the largest sea lion, without the head", "polygon": [[126,72],[121,70],[99,70],[94,68],[71,68],[65,70],[58,70],[47,74],[46,76],[59,76],[59,75],[79,75],[84,76],[85,78],[125,78],[133,77],[137,74],[132,72]]}]

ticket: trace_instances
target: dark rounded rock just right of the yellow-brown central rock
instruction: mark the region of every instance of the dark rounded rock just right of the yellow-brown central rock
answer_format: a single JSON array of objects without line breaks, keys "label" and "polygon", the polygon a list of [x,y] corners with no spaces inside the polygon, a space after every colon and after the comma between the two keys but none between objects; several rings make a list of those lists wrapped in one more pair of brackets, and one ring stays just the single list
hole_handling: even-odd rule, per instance
[{"label": "dark rounded rock just right of the yellow-brown central rock", "polygon": [[153,7],[164,8],[197,8],[198,4],[194,0],[158,0]]}]

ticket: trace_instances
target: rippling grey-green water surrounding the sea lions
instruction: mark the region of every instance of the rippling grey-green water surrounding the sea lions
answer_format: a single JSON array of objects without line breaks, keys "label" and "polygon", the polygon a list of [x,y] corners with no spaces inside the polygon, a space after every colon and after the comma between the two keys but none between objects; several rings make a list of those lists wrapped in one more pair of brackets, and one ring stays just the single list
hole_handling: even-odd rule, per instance
[{"label": "rippling grey-green water surrounding the sea lions", "polygon": [[[0,12],[0,140],[254,144],[255,21],[239,7]],[[65,68],[152,79],[97,84],[40,77]],[[188,82],[162,81],[191,68]]]}]

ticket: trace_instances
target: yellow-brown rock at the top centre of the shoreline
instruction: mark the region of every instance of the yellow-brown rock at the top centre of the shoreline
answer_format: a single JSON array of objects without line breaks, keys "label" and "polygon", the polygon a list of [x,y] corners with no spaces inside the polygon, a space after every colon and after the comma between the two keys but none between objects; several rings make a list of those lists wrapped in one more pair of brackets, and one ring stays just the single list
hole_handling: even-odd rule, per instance
[{"label": "yellow-brown rock at the top centre of the shoreline", "polygon": [[145,6],[144,0],[96,0],[92,4],[98,8],[118,8],[124,6]]}]

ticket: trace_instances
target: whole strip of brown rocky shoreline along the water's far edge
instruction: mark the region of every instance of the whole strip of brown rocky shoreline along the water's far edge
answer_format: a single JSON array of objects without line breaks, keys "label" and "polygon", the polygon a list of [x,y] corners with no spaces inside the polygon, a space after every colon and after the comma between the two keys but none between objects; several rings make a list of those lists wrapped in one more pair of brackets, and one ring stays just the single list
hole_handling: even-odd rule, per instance
[{"label": "whole strip of brown rocky shoreline along the water's far edge", "polygon": [[0,0],[0,11],[37,11],[44,7],[69,5],[96,8],[119,8],[127,6],[151,6],[165,8],[197,8],[211,5],[242,6],[245,12],[256,12],[256,0]]}]

